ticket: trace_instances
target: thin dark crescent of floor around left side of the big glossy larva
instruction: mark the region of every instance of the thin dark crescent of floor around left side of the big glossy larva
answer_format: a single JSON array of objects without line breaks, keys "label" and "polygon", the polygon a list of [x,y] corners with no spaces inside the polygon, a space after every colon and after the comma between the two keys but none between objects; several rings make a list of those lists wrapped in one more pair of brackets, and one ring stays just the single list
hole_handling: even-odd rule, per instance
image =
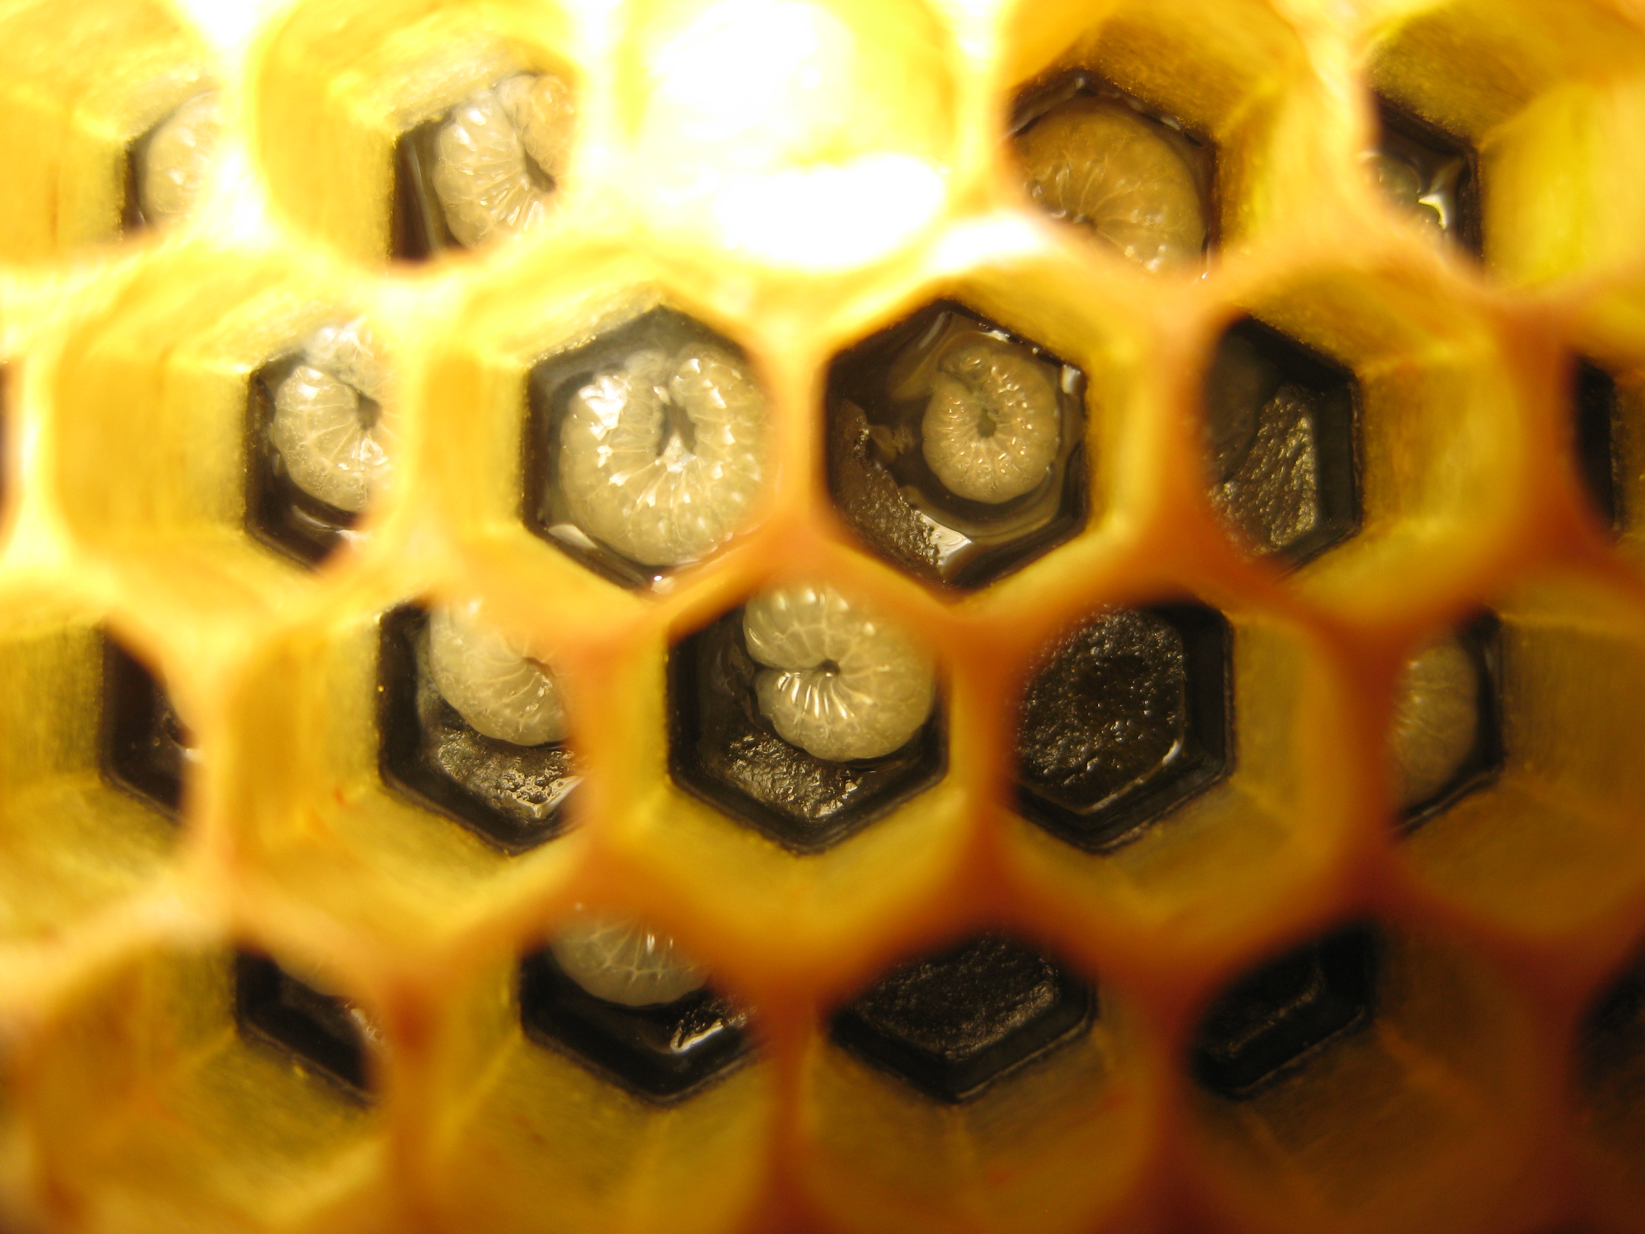
[{"label": "thin dark crescent of floor around left side of the big glossy larva", "polygon": [[628,357],[642,350],[678,352],[689,344],[709,344],[747,362],[742,347],[716,334],[701,321],[670,308],[655,308],[607,331],[584,347],[549,355],[531,369],[530,416],[525,431],[525,499],[521,503],[525,523],[554,548],[625,587],[655,586],[673,568],[630,561],[610,545],[577,527],[558,479],[561,423],[572,397],[587,387],[597,373],[620,369]]}]

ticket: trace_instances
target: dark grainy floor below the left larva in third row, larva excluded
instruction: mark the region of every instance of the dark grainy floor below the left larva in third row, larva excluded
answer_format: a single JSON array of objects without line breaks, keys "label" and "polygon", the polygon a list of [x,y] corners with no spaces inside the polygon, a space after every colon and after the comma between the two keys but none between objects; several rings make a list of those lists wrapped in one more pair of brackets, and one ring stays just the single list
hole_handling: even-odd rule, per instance
[{"label": "dark grainy floor below the left larva in third row, larva excluded", "polygon": [[564,742],[513,745],[475,732],[441,698],[428,666],[428,614],[383,617],[378,658],[380,767],[385,783],[456,819],[505,852],[558,836],[581,782]]}]

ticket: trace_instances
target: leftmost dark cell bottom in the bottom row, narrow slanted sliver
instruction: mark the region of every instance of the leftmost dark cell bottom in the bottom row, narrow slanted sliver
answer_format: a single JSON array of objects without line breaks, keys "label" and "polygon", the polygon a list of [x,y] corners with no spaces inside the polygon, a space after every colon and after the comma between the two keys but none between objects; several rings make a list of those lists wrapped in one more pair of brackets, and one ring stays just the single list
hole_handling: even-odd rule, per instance
[{"label": "leftmost dark cell bottom in the bottom row, narrow slanted sliver", "polygon": [[365,1020],[354,1007],[248,951],[235,954],[234,979],[242,1037],[294,1055],[350,1096],[367,1097]]}]

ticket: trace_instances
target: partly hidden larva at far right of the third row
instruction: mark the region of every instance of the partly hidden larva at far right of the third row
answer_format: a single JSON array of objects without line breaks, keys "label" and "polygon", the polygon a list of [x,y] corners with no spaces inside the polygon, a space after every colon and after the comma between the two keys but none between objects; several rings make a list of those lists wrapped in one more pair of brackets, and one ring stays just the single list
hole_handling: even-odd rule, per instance
[{"label": "partly hidden larva at far right of the third row", "polygon": [[1479,737],[1479,668],[1454,637],[1428,643],[1400,670],[1392,762],[1397,803],[1411,808],[1451,783]]}]

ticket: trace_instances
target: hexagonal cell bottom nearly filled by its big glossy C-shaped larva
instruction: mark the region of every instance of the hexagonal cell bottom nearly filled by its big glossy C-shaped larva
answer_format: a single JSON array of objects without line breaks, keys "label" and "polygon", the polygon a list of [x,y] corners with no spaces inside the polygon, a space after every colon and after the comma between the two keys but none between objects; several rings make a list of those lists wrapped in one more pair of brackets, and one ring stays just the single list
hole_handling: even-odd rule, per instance
[{"label": "hexagonal cell bottom nearly filled by its big glossy C-shaped larva", "polygon": [[541,360],[530,408],[526,527],[630,587],[724,545],[767,479],[748,357],[671,308]]}]

